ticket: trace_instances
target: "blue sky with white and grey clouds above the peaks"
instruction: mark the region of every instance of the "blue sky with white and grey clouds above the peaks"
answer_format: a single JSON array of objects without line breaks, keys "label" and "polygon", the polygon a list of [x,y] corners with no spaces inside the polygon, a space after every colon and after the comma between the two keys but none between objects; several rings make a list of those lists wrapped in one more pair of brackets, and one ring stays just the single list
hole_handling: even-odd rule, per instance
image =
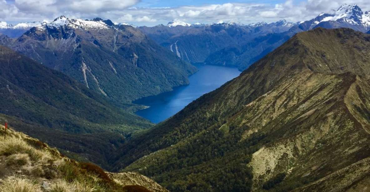
[{"label": "blue sky with white and grey clouds above the peaks", "polygon": [[115,23],[154,26],[179,20],[186,23],[291,22],[330,13],[342,4],[370,11],[369,0],[0,0],[0,21],[19,23],[100,17]]}]

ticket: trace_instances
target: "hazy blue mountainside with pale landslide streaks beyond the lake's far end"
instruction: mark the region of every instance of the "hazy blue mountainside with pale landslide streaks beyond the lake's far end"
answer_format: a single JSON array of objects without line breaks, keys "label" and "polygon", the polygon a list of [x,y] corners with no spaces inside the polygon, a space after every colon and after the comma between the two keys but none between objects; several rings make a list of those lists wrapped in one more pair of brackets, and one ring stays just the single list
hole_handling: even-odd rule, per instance
[{"label": "hazy blue mountainside with pale landslide streaks beyond the lake's far end", "polygon": [[230,24],[140,27],[158,44],[191,63],[204,62],[209,54],[249,37],[243,28]]}]

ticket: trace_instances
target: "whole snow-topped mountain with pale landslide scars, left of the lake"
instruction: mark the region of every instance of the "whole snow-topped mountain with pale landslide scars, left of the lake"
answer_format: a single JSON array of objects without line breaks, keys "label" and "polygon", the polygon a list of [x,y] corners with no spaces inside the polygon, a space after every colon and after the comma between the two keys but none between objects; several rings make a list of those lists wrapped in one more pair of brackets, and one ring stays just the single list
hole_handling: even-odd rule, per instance
[{"label": "whole snow-topped mountain with pale landslide scars, left of the lake", "polygon": [[56,18],[6,44],[125,106],[188,83],[195,67],[129,25]]}]

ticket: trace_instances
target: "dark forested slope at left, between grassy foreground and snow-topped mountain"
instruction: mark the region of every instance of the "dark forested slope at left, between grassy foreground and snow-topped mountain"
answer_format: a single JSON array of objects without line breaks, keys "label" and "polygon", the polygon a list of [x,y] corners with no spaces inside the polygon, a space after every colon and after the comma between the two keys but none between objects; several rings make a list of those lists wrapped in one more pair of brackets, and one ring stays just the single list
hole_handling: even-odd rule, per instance
[{"label": "dark forested slope at left, between grassy foreground and snow-topped mountain", "polygon": [[125,135],[152,126],[63,73],[3,46],[0,66],[1,117],[105,168],[106,157],[124,143]]}]

